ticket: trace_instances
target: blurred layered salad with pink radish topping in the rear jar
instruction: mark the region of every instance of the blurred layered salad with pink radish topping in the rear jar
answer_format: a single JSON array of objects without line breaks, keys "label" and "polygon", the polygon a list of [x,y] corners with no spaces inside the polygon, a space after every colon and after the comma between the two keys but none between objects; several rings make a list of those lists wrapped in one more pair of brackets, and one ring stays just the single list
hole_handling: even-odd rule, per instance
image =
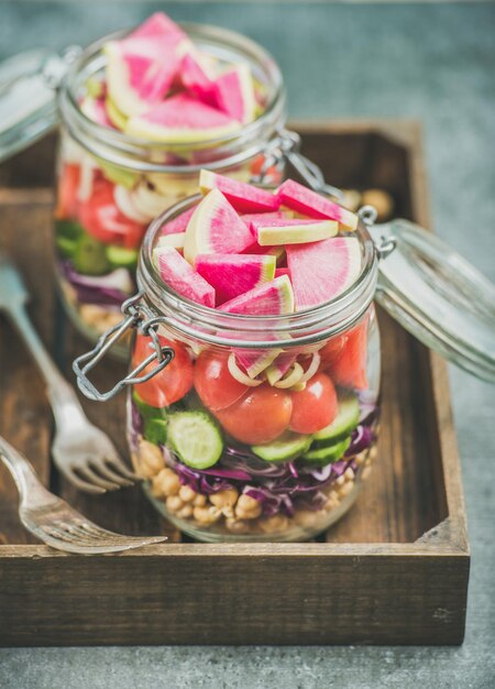
[{"label": "blurred layered salad with pink radish topping in the rear jar", "polygon": [[[248,61],[201,50],[163,13],[105,43],[101,56],[103,66],[78,89],[80,112],[89,128],[108,132],[110,151],[121,139],[145,143],[151,162],[167,172],[142,172],[139,155],[135,164],[132,156],[116,164],[111,155],[80,145],[69,129],[62,131],[55,210],[59,283],[70,316],[92,339],[118,321],[120,305],[135,291],[148,222],[195,193],[194,167],[228,157],[226,142],[256,121],[267,102],[266,85]],[[254,155],[226,172],[249,181],[263,162]],[[276,181],[279,171],[270,175]]]}]

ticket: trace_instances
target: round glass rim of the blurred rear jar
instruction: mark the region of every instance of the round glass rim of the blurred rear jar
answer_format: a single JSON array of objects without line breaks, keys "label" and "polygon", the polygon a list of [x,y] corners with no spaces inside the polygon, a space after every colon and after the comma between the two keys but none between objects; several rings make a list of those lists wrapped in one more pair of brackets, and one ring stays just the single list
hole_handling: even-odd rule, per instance
[{"label": "round glass rim of the blurred rear jar", "polygon": [[[112,130],[88,118],[79,108],[77,90],[82,80],[96,74],[105,65],[102,46],[109,40],[124,36],[130,30],[117,31],[102,36],[88,45],[69,70],[61,86],[59,109],[63,122],[70,135],[85,149],[98,157],[116,165],[153,173],[196,173],[205,166],[206,161],[195,164],[174,165],[147,160],[153,152],[170,151],[180,155],[183,151],[211,149],[213,160],[208,162],[210,168],[227,167],[251,158],[261,151],[270,136],[286,120],[286,92],[282,72],[274,57],[260,44],[246,36],[228,29],[209,24],[184,22],[179,25],[195,43],[217,45],[231,51],[262,72],[270,90],[268,100],[263,112],[239,132],[215,139],[205,139],[199,143],[156,142],[130,136],[119,130]],[[84,78],[82,78],[84,77]],[[232,150],[235,146],[234,150]],[[222,155],[223,154],[223,155]]]}]

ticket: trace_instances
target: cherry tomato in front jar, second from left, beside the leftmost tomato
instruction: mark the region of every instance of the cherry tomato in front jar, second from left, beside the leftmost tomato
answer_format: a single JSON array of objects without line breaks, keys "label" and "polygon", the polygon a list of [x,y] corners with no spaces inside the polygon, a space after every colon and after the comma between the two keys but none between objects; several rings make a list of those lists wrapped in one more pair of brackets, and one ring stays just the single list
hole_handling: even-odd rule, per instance
[{"label": "cherry tomato in front jar, second from left, beside the leftmost tomato", "polygon": [[227,365],[228,354],[204,351],[195,363],[195,387],[202,404],[212,412],[224,409],[248,392],[230,374]]}]

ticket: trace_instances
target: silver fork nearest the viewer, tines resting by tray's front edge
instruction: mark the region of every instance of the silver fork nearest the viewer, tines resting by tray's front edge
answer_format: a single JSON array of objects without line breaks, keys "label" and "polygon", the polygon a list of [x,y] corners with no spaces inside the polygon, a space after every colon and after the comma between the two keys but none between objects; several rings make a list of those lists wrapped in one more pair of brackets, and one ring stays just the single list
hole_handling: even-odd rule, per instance
[{"label": "silver fork nearest the viewer, tines resting by tray's front edge", "polygon": [[21,522],[52,548],[91,555],[119,553],[167,540],[166,536],[123,536],[97,526],[65,500],[47,491],[37,479],[31,462],[1,436],[0,459],[18,486]]}]

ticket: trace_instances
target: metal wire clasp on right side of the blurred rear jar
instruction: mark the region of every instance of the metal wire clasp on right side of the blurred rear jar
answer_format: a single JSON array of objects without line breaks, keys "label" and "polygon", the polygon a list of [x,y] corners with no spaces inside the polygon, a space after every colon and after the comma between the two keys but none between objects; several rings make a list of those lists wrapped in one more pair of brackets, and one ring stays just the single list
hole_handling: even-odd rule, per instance
[{"label": "metal wire clasp on right side of the blurred rear jar", "polygon": [[277,135],[270,142],[265,151],[265,160],[260,174],[252,182],[262,184],[271,167],[287,160],[306,184],[315,192],[341,199],[343,194],[337,187],[324,182],[323,173],[316,163],[300,153],[300,136],[287,129],[277,130]]}]

